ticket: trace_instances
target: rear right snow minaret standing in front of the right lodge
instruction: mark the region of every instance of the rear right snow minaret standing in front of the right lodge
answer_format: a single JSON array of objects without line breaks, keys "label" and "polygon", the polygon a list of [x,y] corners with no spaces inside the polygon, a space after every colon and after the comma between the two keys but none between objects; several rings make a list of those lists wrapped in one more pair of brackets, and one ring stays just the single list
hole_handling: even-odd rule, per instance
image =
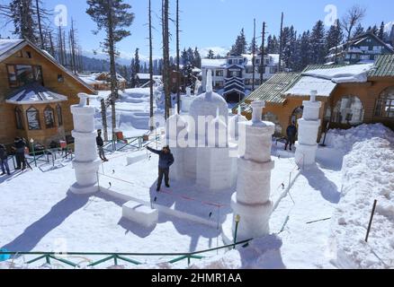
[{"label": "rear right snow minaret standing in front of the right lodge", "polygon": [[316,162],[318,151],[318,127],[321,102],[316,100],[318,91],[310,92],[310,100],[303,102],[304,112],[299,119],[299,141],[296,143],[295,161],[299,166],[308,166]]}]

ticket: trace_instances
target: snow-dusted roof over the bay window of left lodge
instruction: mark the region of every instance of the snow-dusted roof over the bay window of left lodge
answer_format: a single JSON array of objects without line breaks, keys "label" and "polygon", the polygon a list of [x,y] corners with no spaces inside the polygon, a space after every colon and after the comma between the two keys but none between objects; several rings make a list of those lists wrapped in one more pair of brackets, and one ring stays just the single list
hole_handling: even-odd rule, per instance
[{"label": "snow-dusted roof over the bay window of left lodge", "polygon": [[31,83],[13,91],[13,93],[5,100],[9,104],[44,104],[51,102],[66,101],[67,97],[47,88],[38,83]]}]

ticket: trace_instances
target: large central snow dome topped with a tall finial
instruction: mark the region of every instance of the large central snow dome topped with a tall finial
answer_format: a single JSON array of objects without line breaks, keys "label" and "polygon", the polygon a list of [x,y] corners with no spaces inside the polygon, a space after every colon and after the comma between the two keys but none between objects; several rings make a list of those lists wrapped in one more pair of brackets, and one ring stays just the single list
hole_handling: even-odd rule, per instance
[{"label": "large central snow dome topped with a tall finial", "polygon": [[[189,114],[193,117],[196,134],[198,134],[198,118],[203,117],[206,121],[208,117],[215,118],[217,110],[219,109],[219,116],[225,119],[228,123],[228,104],[218,93],[212,89],[212,74],[209,70],[207,72],[207,91],[197,96],[190,106]],[[202,133],[202,131],[201,131]],[[203,133],[205,135],[205,133]]]}]

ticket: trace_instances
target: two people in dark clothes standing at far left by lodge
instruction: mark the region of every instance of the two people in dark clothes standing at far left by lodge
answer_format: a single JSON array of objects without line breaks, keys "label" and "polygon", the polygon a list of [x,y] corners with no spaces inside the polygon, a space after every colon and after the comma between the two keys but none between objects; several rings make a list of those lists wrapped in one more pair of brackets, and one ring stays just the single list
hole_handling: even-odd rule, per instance
[{"label": "two people in dark clothes standing at far left by lodge", "polygon": [[[16,168],[15,170],[25,170],[26,169],[26,142],[21,137],[15,137],[13,141],[13,152],[15,154]],[[4,144],[0,144],[0,167],[2,173],[0,175],[4,176],[11,175],[10,166],[8,164],[8,152]]]}]

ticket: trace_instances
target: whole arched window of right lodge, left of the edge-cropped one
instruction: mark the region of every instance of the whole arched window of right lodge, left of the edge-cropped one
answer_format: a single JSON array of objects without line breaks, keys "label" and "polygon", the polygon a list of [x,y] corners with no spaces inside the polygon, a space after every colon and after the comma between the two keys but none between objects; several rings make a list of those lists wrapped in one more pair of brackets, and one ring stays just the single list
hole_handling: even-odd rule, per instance
[{"label": "whole arched window of right lodge, left of the edge-cropped one", "polygon": [[333,122],[336,124],[359,125],[363,123],[363,102],[355,96],[345,96],[336,102]]}]

